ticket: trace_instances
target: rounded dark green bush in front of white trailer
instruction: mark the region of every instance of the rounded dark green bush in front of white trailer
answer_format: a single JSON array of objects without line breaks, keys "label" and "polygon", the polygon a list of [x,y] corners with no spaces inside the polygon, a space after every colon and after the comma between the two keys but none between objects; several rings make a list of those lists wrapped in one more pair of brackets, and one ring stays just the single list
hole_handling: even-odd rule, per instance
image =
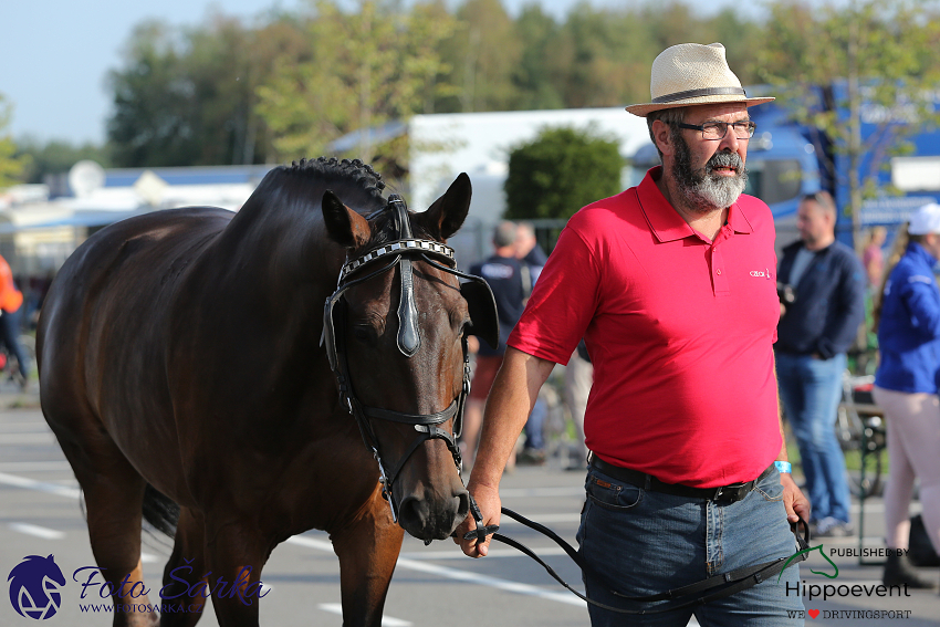
[{"label": "rounded dark green bush in front of white trailer", "polygon": [[510,151],[505,217],[566,219],[585,205],[620,191],[616,139],[592,130],[545,128]]}]

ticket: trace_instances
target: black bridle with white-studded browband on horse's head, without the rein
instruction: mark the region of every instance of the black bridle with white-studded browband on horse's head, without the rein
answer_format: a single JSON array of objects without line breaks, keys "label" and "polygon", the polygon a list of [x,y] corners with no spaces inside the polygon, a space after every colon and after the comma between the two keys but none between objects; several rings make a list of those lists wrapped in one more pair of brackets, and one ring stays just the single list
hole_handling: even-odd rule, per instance
[{"label": "black bridle with white-studded browband on horse's head, without the rein", "polygon": [[[467,349],[467,335],[461,337],[463,347],[463,384],[457,398],[447,408],[435,414],[406,414],[393,409],[384,409],[380,407],[370,407],[359,401],[353,389],[352,378],[349,376],[349,366],[346,359],[346,346],[344,343],[344,325],[345,325],[345,302],[342,300],[344,293],[349,288],[370,281],[394,268],[398,268],[401,275],[401,295],[398,303],[398,334],[397,346],[398,351],[410,358],[418,353],[421,345],[421,337],[418,330],[418,311],[415,302],[414,290],[414,273],[411,261],[421,259],[434,268],[453,274],[461,279],[471,282],[479,282],[487,286],[485,281],[480,276],[467,274],[457,270],[453,249],[440,242],[415,239],[411,237],[411,228],[408,221],[408,209],[405,201],[398,195],[391,195],[388,199],[389,209],[394,210],[396,222],[396,232],[398,239],[385,243],[369,252],[348,261],[340,271],[340,280],[336,285],[336,291],[326,299],[326,305],[323,312],[323,336],[321,344],[325,344],[326,354],[330,358],[330,368],[336,376],[340,385],[340,398],[346,409],[356,420],[359,427],[359,432],[363,436],[363,441],[368,448],[376,462],[378,463],[379,482],[382,483],[382,495],[388,501],[391,508],[391,518],[398,522],[398,511],[391,495],[391,489],[398,473],[404,468],[405,463],[411,457],[418,447],[428,440],[443,440],[447,449],[453,456],[453,462],[457,466],[458,472],[461,470],[460,448],[457,446],[457,438],[460,436],[460,427],[463,418],[463,405],[467,395],[470,391],[470,355]],[[443,261],[447,265],[435,261],[437,258]],[[377,270],[373,270],[368,274],[349,280],[349,275],[359,271],[362,268],[372,265],[379,260],[386,263]],[[490,293],[492,297],[492,293]],[[383,461],[379,451],[378,439],[372,428],[369,418],[388,420],[391,422],[401,422],[412,425],[418,432],[417,438],[411,442],[401,459],[390,469],[386,469],[386,463]],[[453,418],[453,431],[448,432],[438,425]]]}]

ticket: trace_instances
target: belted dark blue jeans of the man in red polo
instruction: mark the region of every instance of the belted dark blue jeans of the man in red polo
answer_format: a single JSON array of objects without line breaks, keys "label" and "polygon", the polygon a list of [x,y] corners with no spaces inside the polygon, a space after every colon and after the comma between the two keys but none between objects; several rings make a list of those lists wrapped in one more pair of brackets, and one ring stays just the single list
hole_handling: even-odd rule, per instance
[{"label": "belted dark blue jeans of the man in red polo", "polygon": [[[588,598],[606,605],[654,609],[675,604],[625,602],[610,588],[626,596],[658,594],[797,551],[776,470],[744,500],[731,504],[646,491],[593,468],[585,489],[577,541],[581,554],[603,582],[585,576],[584,583]],[[616,614],[588,605],[591,625],[686,627],[694,614],[702,627],[798,626],[803,625],[795,617],[803,610],[795,592],[798,579],[794,564],[780,582],[773,576],[706,605],[661,614]]]}]

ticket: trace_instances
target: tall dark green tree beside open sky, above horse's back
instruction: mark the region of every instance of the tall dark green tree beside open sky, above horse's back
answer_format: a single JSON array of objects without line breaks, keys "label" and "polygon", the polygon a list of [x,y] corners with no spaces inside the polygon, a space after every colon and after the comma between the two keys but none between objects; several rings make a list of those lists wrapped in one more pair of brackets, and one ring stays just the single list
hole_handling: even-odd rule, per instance
[{"label": "tall dark green tree beside open sky, above horse's back", "polygon": [[124,167],[264,163],[271,139],[257,90],[276,59],[303,59],[300,29],[275,17],[258,29],[215,14],[206,25],[138,25],[114,93],[108,139]]}]

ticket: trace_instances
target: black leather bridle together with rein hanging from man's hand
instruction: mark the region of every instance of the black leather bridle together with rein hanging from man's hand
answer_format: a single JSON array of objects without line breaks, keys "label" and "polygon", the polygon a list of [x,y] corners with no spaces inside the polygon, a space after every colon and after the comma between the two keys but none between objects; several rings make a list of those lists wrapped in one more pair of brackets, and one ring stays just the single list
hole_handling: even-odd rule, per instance
[{"label": "black leather bridle together with rein hanging from man's hand", "polygon": [[[388,272],[396,267],[399,268],[401,272],[401,297],[399,300],[398,306],[399,328],[397,344],[398,349],[406,357],[411,357],[412,355],[415,355],[417,353],[418,347],[420,346],[420,336],[418,334],[416,324],[417,307],[414,299],[414,275],[411,272],[411,257],[419,257],[425,262],[438,270],[469,281],[469,283],[464,283],[461,285],[461,294],[463,294],[464,299],[468,300],[468,305],[470,305],[471,312],[473,310],[473,302],[471,301],[478,301],[481,299],[485,300],[488,297],[489,302],[492,303],[492,317],[495,317],[495,303],[493,302],[492,291],[483,279],[457,270],[453,249],[440,242],[415,239],[411,237],[410,224],[408,223],[407,207],[405,206],[404,200],[401,200],[397,195],[393,195],[388,200],[388,205],[396,210],[395,219],[397,224],[398,239],[396,241],[380,245],[363,254],[362,257],[348,261],[343,265],[343,269],[340,272],[340,279],[337,281],[336,291],[333,292],[333,294],[326,299],[326,304],[324,306],[323,335],[321,336],[321,344],[325,344],[326,354],[330,359],[330,368],[333,370],[333,374],[336,376],[336,380],[338,383],[340,398],[345,405],[346,409],[349,411],[349,414],[355,418],[356,425],[358,426],[359,432],[362,433],[363,441],[365,442],[366,448],[372,451],[373,457],[375,458],[376,463],[378,464],[379,483],[382,483],[382,495],[386,499],[386,501],[388,501],[388,505],[391,509],[391,518],[397,523],[398,512],[396,510],[395,500],[393,497],[393,487],[395,480],[398,478],[398,473],[401,471],[405,463],[421,445],[432,439],[443,440],[447,445],[447,449],[453,457],[453,462],[457,466],[458,473],[462,470],[460,448],[457,446],[457,438],[460,435],[464,403],[467,400],[467,396],[470,393],[470,356],[467,347],[467,335],[464,334],[461,337],[461,344],[463,349],[463,382],[457,398],[447,408],[434,414],[407,414],[404,411],[396,411],[380,407],[366,406],[358,400],[355,390],[353,389],[348,363],[346,362],[345,345],[342,343],[342,338],[344,336],[343,324],[345,322],[345,316],[343,315],[344,306],[342,304],[343,294],[349,288],[365,283],[366,281],[369,281],[380,274],[384,274],[385,272]],[[435,259],[432,259],[432,257],[443,260],[449,265],[438,263],[437,261],[435,261]],[[349,275],[356,272],[357,270],[377,260],[386,258],[390,258],[390,260],[377,270],[373,270],[368,274],[349,280]],[[474,284],[474,289],[464,289],[468,286],[473,288]],[[471,313],[471,318],[473,316]],[[495,328],[498,328],[498,325]],[[405,425],[412,425],[415,431],[419,433],[418,437],[412,440],[411,445],[408,447],[401,458],[398,460],[398,463],[396,463],[390,469],[390,471],[386,469],[386,464],[383,461],[383,457],[379,451],[378,439],[376,438],[372,425],[369,424],[369,418],[400,422]],[[453,418],[455,425],[452,432],[448,432],[438,427],[438,425],[446,422],[451,418]],[[596,600],[592,600],[587,598],[586,595],[574,589],[564,579],[562,579],[551,566],[549,566],[541,557],[539,557],[539,555],[534,551],[512,537],[497,533],[500,529],[499,525],[483,525],[483,514],[480,511],[480,506],[477,504],[477,501],[473,499],[472,495],[470,495],[469,501],[470,515],[473,516],[473,520],[477,523],[477,529],[467,532],[463,535],[464,540],[476,539],[478,543],[483,543],[487,536],[492,534],[493,540],[502,542],[503,544],[512,546],[513,548],[516,548],[518,551],[522,552],[523,554],[528,555],[529,557],[541,564],[556,582],[558,582],[562,586],[571,591],[584,602],[618,614],[661,614],[665,612],[672,612],[673,609],[680,609],[683,607],[689,607],[692,605],[699,605],[708,603],[710,600],[723,598],[740,591],[750,588],[763,581],[766,581],[769,577],[772,577],[773,575],[783,572],[783,569],[786,568],[791,563],[802,562],[808,556],[806,550],[808,548],[810,531],[805,521],[801,519],[800,522],[803,523],[805,530],[805,537],[801,537],[798,533],[798,523],[791,523],[791,530],[796,536],[796,542],[801,548],[801,553],[797,553],[795,557],[781,557],[780,560],[774,560],[772,562],[756,564],[754,566],[745,566],[743,568],[739,568],[730,573],[713,575],[694,584],[682,586],[665,593],[643,597],[630,597],[627,595],[623,595],[616,592],[614,588],[607,586],[608,589],[610,589],[612,594],[623,598],[624,600],[639,603],[651,603],[657,600],[676,602],[652,609],[624,609],[605,605]],[[522,516],[506,508],[502,508],[502,513],[515,520],[516,522],[551,539],[565,551],[565,553],[575,562],[575,564],[577,564],[585,577],[591,577],[596,581],[603,582],[603,577],[597,575],[589,567],[589,565],[584,562],[578,552],[551,529],[534,521],[531,521],[525,516]],[[430,542],[431,541],[429,540],[425,541],[425,544],[430,544]]]}]

